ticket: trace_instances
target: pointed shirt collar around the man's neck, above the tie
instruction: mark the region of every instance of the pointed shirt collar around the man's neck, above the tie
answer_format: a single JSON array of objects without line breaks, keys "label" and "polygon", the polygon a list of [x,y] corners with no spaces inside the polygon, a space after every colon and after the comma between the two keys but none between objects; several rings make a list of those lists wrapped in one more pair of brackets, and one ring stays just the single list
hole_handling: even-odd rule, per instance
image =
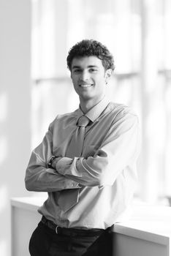
[{"label": "pointed shirt collar around the man's neck, above the tie", "polygon": [[[103,110],[107,107],[109,104],[109,99],[107,97],[104,97],[99,103],[94,105],[93,108],[91,108],[88,113],[85,114],[92,122],[96,120],[100,116],[100,114],[103,112]],[[83,115],[82,110],[79,108],[79,116]]]}]

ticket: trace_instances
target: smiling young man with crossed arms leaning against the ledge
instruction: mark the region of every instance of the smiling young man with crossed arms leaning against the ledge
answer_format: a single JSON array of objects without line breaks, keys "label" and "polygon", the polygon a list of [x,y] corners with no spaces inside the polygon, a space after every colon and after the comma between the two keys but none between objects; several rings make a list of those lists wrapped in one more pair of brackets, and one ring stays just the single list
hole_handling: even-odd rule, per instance
[{"label": "smiling young man with crossed arms leaning against the ledge", "polygon": [[80,107],[58,115],[26,170],[26,189],[47,192],[31,256],[113,255],[111,226],[126,215],[140,147],[137,116],[105,97],[113,56],[83,40],[67,64]]}]

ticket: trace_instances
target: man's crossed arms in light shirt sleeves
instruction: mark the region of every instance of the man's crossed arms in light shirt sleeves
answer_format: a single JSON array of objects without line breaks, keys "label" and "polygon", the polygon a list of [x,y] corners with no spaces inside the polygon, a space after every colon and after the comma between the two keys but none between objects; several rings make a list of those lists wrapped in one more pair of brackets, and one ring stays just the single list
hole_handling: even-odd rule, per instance
[{"label": "man's crossed arms in light shirt sleeves", "polygon": [[53,155],[51,129],[37,148],[32,151],[26,169],[26,189],[37,192],[56,192],[81,186],[112,186],[126,167],[135,164],[140,151],[140,127],[137,116],[120,116],[104,136],[102,145],[91,157],[71,159],[59,156],[55,168],[47,162]]}]

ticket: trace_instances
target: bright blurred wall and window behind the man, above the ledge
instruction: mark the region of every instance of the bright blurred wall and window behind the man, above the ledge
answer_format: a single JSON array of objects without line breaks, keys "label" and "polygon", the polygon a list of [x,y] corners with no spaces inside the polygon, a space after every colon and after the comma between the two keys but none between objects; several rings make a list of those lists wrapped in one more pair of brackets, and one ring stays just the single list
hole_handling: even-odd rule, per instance
[{"label": "bright blurred wall and window behind the man, above the ledge", "polygon": [[170,29],[170,0],[0,0],[1,256],[10,255],[10,198],[44,196],[24,187],[31,150],[58,113],[78,107],[66,56],[81,39],[107,45],[108,97],[140,117],[135,200],[170,206]]}]

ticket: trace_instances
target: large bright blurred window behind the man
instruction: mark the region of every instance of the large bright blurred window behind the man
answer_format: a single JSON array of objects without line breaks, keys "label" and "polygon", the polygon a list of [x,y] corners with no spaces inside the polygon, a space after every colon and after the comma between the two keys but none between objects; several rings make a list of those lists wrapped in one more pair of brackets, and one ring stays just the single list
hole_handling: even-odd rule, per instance
[{"label": "large bright blurred window behind the man", "polygon": [[32,147],[58,113],[75,110],[67,52],[83,38],[111,50],[108,95],[132,106],[142,124],[137,196],[167,203],[171,155],[170,0],[33,0]]}]

